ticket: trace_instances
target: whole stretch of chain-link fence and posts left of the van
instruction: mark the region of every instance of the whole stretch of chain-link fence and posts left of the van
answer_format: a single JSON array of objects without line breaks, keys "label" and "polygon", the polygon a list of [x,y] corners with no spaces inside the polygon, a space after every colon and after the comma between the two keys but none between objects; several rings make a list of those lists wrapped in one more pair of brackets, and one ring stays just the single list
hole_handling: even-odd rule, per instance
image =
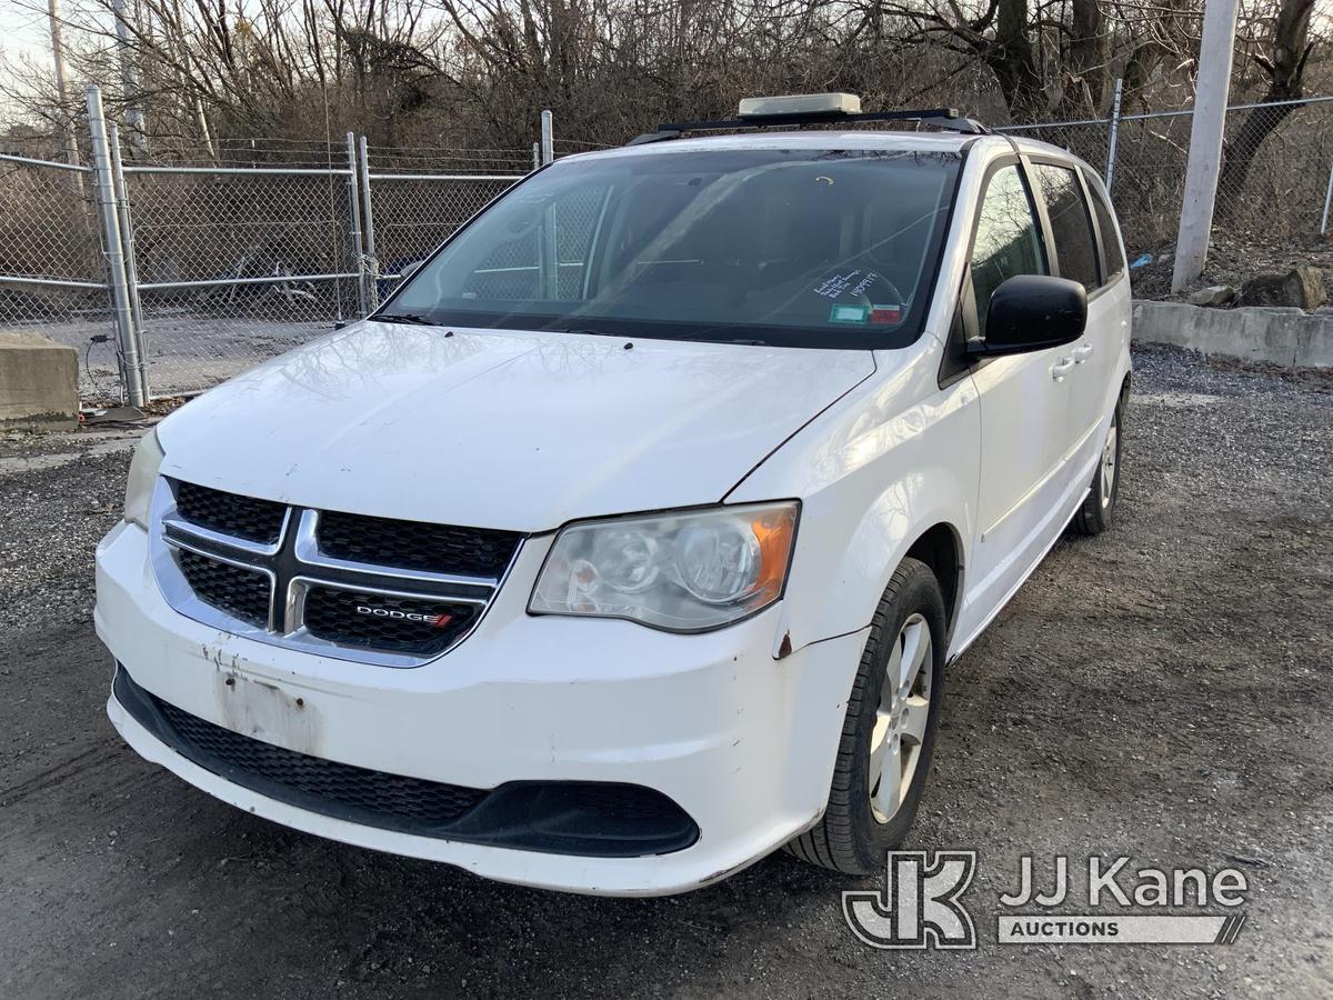
[{"label": "whole stretch of chain-link fence and posts left of the van", "polygon": [[363,140],[359,156],[351,135],[341,149],[256,140],[203,164],[121,164],[93,101],[101,172],[0,155],[0,329],[77,348],[89,403],[133,397],[140,369],[145,396],[197,392],[367,315],[532,169],[529,151]]}]

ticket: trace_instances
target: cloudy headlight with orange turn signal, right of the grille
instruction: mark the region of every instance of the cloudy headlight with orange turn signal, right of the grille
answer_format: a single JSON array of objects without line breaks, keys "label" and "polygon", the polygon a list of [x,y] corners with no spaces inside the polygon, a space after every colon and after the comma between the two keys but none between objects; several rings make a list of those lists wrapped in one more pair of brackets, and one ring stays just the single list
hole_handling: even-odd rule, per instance
[{"label": "cloudy headlight with orange turn signal, right of the grille", "polygon": [[718,628],[782,595],[798,511],[789,501],[571,524],[528,611]]}]

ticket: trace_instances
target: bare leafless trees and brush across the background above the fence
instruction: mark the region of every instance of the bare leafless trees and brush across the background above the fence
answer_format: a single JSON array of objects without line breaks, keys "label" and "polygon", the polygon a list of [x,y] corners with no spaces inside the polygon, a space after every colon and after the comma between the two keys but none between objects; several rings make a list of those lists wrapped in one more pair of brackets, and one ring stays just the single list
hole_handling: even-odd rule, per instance
[{"label": "bare leafless trees and brush across the background above the fence", "polygon": [[[9,0],[35,12],[45,0]],[[152,156],[253,136],[525,148],[543,108],[560,136],[619,143],[724,115],[756,93],[845,89],[868,107],[953,104],[1040,121],[1188,103],[1202,0],[135,0],[128,44]],[[77,77],[117,80],[113,0],[65,0]],[[1302,92],[1316,0],[1249,0],[1238,65],[1265,100]],[[1241,89],[1245,81],[1241,80]],[[0,73],[25,120],[77,113],[41,75]],[[108,103],[119,111],[117,92]],[[71,101],[76,105],[77,96]],[[1250,116],[1224,177],[1242,181],[1281,123]]]}]

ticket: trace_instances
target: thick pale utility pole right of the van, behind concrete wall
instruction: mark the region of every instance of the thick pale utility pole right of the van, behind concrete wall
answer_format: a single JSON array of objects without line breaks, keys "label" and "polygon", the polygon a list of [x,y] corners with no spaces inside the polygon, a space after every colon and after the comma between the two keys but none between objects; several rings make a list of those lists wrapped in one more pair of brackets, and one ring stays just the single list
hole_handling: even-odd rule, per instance
[{"label": "thick pale utility pole right of the van, behind concrete wall", "polygon": [[1232,83],[1236,51],[1237,0],[1206,0],[1204,37],[1194,80],[1194,119],[1189,129],[1189,165],[1185,168],[1185,200],[1180,207],[1176,264],[1170,289],[1184,291],[1204,273],[1208,239],[1213,229],[1217,175],[1222,167],[1222,136],[1226,129],[1226,95]]}]

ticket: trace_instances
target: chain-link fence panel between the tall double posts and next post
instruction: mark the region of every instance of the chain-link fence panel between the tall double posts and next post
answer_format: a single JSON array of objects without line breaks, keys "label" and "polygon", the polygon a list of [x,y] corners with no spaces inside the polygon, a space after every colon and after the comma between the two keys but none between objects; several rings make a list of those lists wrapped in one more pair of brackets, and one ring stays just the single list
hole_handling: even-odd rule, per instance
[{"label": "chain-link fence panel between the tall double posts and next post", "polygon": [[149,389],[207,388],[361,312],[352,171],[125,169]]}]

